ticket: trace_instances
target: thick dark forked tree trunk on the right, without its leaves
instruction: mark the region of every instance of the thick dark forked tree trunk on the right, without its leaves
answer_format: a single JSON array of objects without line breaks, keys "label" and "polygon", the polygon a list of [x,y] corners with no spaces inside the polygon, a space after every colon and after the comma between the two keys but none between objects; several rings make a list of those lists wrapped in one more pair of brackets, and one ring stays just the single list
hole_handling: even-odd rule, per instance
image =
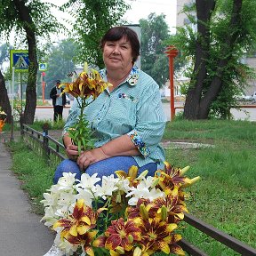
[{"label": "thick dark forked tree trunk on the right, without its leaves", "polygon": [[[215,8],[215,1],[196,0],[196,15],[198,36],[196,39],[196,62],[194,68],[195,76],[191,78],[190,88],[184,106],[184,117],[186,119],[207,119],[209,116],[212,102],[217,99],[221,87],[221,76],[224,72],[228,61],[231,59],[232,52],[237,37],[239,36],[240,13],[243,0],[234,0],[233,9],[230,19],[230,33],[227,31],[226,42],[222,44],[220,49],[219,63],[216,65],[216,75],[207,88],[207,92],[203,94],[204,80],[207,77],[206,61],[208,52],[210,51],[210,31],[207,27],[211,19],[211,13]],[[203,22],[202,22],[203,21]],[[225,52],[225,58],[222,54]]]}]

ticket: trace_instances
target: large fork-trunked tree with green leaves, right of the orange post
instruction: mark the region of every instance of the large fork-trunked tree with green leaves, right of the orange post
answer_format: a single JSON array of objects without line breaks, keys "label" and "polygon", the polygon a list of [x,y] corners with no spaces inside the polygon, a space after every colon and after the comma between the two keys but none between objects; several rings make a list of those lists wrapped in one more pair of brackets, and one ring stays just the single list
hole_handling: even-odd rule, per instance
[{"label": "large fork-trunked tree with green leaves, right of the orange post", "polygon": [[[255,42],[255,1],[196,0],[197,31],[178,28],[174,44],[192,63],[184,106],[187,119],[206,119],[212,114],[227,118],[234,94],[243,90],[252,69],[241,63]],[[191,10],[185,10],[187,13]],[[191,12],[190,12],[191,13]],[[173,43],[173,41],[172,41]],[[188,59],[187,59],[188,60]]]}]

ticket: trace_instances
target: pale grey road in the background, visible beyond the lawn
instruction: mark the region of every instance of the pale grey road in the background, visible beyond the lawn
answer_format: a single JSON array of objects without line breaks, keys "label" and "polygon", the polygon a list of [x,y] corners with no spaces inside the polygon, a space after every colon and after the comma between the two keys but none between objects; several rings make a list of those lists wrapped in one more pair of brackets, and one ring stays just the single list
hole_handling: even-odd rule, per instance
[{"label": "pale grey road in the background, visible beyond the lawn", "polygon": [[[72,104],[72,101],[71,101]],[[168,121],[171,120],[171,108],[170,103],[163,103],[164,112]],[[183,106],[183,103],[176,102],[175,107]],[[63,110],[63,118],[67,119],[68,111],[70,107],[64,108]],[[176,114],[183,109],[177,108]],[[242,108],[242,110],[236,110],[236,108],[231,109],[231,114],[234,116],[235,120],[248,120],[248,121],[256,121],[256,108]],[[53,108],[36,108],[35,119],[37,120],[53,120]]]}]

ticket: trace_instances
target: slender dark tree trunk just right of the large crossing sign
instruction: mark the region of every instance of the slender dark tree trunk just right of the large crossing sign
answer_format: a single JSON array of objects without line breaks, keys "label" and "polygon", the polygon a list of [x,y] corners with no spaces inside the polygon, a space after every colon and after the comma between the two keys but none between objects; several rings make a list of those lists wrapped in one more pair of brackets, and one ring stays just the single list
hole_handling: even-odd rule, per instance
[{"label": "slender dark tree trunk just right of the large crossing sign", "polygon": [[26,105],[24,110],[24,123],[33,124],[36,113],[36,74],[38,62],[36,57],[36,28],[31,18],[26,1],[14,0],[15,7],[19,13],[22,27],[26,31],[28,41],[28,85],[26,89]]}]

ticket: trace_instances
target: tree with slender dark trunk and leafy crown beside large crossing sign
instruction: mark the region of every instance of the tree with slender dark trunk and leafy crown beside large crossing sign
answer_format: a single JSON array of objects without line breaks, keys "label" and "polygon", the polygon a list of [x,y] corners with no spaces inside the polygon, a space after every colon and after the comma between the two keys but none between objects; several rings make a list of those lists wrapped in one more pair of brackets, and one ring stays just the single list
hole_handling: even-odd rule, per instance
[{"label": "tree with slender dark trunk and leafy crown beside large crossing sign", "polygon": [[[8,38],[10,32],[14,30],[16,36],[22,38],[25,35],[28,44],[28,85],[24,111],[26,124],[33,124],[36,112],[36,74],[38,69],[36,39],[39,36],[56,32],[58,28],[60,26],[55,17],[51,15],[49,4],[41,3],[38,0],[4,0],[0,3],[0,32],[2,36],[6,33]],[[3,86],[5,84],[0,83],[0,87]],[[5,91],[3,92],[5,93]]]}]

